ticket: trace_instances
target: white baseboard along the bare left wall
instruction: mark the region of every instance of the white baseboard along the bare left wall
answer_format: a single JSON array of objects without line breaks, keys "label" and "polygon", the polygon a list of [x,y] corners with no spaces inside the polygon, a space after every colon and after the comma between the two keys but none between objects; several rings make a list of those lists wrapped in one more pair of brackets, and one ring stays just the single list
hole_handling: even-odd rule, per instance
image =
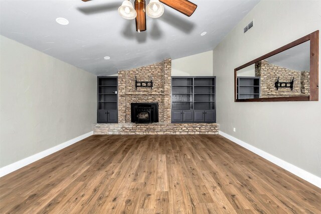
[{"label": "white baseboard along the bare left wall", "polygon": [[72,145],[72,144],[74,144],[74,143],[76,143],[76,142],[78,142],[78,141],[80,141],[82,139],[85,139],[86,137],[89,137],[91,135],[93,135],[93,131],[88,132],[88,133],[83,134],[83,135],[80,135],[78,137],[75,137],[75,138],[73,138],[71,140],[68,140],[68,141],[66,141],[64,143],[61,143],[61,144],[59,144],[57,146],[51,147],[49,149],[46,149],[45,151],[42,151],[42,152],[39,152],[39,153],[34,154],[32,156],[26,157],[25,159],[22,159],[22,160],[19,160],[17,162],[14,162],[12,164],[9,164],[7,166],[4,166],[4,167],[0,168],[0,177],[4,176],[6,174],[9,174],[10,172],[16,171],[17,169],[20,169],[20,168],[22,168],[22,167],[24,167],[24,166],[26,166],[26,165],[28,165],[30,163],[33,163],[33,162],[35,162],[35,161],[37,161],[37,160],[39,160],[39,159],[41,159],[43,157],[46,157],[46,156],[48,156],[48,155],[50,155],[50,154],[52,154],[52,153],[54,153],[56,151],[59,151],[59,150],[65,148],[67,146],[70,146],[70,145]]}]

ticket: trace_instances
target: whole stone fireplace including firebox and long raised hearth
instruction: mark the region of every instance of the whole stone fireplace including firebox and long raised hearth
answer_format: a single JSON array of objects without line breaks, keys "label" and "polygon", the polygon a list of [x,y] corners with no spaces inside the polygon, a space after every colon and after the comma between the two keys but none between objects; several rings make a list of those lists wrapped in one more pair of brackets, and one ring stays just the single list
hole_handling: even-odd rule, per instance
[{"label": "whole stone fireplace including firebox and long raised hearth", "polygon": [[[94,134],[218,134],[217,123],[171,123],[171,70],[167,59],[119,71],[118,123],[94,124]],[[152,79],[152,89],[136,89],[135,79]]]}]

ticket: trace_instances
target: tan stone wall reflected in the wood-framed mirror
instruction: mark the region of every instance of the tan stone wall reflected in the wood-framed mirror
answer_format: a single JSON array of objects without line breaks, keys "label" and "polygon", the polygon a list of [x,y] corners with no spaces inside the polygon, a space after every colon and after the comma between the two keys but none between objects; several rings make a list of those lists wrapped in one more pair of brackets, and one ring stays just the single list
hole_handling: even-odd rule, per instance
[{"label": "tan stone wall reflected in the wood-framed mirror", "polygon": [[[255,76],[261,79],[260,98],[309,95],[309,71],[295,71],[262,60],[255,63]],[[274,83],[278,77],[280,82],[290,82],[294,77],[293,90],[289,88],[276,90]]]}]

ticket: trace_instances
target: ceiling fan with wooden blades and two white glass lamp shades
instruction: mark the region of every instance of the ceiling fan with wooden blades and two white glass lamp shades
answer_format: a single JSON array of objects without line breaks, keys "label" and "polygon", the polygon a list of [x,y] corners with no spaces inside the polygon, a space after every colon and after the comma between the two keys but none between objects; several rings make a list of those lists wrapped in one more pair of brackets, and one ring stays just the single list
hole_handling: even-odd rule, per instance
[{"label": "ceiling fan with wooden blades and two white glass lamp shades", "polygon": [[[91,0],[82,0],[88,2]],[[165,4],[178,12],[190,17],[197,8],[197,5],[188,0],[150,0],[149,4],[145,6],[146,0],[135,0],[133,7],[130,0],[124,0],[118,8],[119,15],[126,20],[136,19],[136,31],[146,31],[146,14],[151,18],[158,18],[164,14]]]}]

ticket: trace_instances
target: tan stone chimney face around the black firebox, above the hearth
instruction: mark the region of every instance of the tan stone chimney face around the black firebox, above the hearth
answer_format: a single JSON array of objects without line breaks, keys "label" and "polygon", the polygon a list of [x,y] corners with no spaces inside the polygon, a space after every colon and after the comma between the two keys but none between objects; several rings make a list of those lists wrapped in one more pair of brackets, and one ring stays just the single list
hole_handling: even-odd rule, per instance
[{"label": "tan stone chimney face around the black firebox, above the hearth", "polygon": [[[118,72],[118,122],[133,122],[132,103],[157,103],[157,122],[171,123],[171,59]],[[150,81],[153,88],[135,87],[137,81]]]}]

